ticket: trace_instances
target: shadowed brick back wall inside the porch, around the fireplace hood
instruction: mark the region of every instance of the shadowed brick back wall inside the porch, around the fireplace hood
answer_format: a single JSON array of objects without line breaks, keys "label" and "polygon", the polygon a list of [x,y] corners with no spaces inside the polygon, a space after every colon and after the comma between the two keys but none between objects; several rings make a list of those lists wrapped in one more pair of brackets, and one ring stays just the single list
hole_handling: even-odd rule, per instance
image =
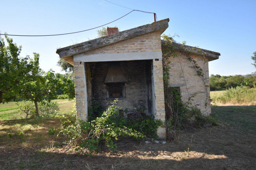
[{"label": "shadowed brick back wall inside the porch, around the fireplace hood", "polygon": [[[145,63],[148,60],[124,61],[120,62],[122,72],[127,82],[125,82],[125,98],[119,99],[118,106],[125,108],[147,108],[147,84]],[[104,84],[108,72],[109,62],[90,63],[91,79],[87,84],[88,92],[91,91],[90,99],[99,102],[103,109],[108,108],[114,99],[107,99],[107,84]],[[88,80],[87,80],[88,81]],[[147,113],[148,109],[145,111]]]}]

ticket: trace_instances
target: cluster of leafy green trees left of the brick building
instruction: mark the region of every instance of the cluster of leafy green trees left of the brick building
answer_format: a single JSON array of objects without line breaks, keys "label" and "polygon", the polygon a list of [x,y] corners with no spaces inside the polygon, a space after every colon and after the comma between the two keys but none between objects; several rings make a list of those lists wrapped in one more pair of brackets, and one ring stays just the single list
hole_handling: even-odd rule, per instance
[{"label": "cluster of leafy green trees left of the brick building", "polygon": [[28,99],[35,104],[39,114],[38,102],[50,102],[56,99],[57,91],[62,90],[62,98],[74,98],[74,82],[61,74],[50,70],[45,73],[39,67],[39,54],[20,57],[21,46],[13,43],[11,38],[0,38],[0,103]]}]

